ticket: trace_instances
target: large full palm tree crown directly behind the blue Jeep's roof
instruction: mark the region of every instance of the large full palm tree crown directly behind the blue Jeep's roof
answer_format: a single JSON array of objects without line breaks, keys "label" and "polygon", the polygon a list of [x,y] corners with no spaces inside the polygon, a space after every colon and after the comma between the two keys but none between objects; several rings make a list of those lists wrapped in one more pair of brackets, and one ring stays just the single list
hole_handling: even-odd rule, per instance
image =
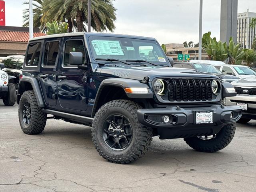
[{"label": "large full palm tree crown directly behind the blue Jeep's roof", "polygon": [[[44,0],[41,22],[52,22],[53,20],[67,20],[69,24],[69,32],[73,26],[77,31],[86,31],[85,24],[88,23],[87,0]],[[113,32],[116,20],[116,9],[112,4],[112,0],[92,0],[91,1],[91,25],[97,32],[109,30]]]}]

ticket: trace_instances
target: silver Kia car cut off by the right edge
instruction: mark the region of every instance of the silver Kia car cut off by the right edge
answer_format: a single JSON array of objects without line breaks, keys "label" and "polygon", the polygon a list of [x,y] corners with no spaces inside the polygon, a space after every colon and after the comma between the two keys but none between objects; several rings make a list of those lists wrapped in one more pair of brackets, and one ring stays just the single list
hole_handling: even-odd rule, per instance
[{"label": "silver Kia car cut off by the right edge", "polygon": [[256,75],[242,78],[231,83],[237,95],[224,98],[226,105],[238,105],[242,108],[242,118],[239,123],[247,123],[251,119],[256,119]]}]

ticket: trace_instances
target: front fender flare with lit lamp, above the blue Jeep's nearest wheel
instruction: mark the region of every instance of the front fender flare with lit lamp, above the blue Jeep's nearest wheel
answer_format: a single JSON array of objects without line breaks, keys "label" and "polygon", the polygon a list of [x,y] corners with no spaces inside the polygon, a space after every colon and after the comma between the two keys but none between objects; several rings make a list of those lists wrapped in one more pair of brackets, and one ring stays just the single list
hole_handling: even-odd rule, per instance
[{"label": "front fender flare with lit lamp, above the blue Jeep's nearest wheel", "polygon": [[94,116],[95,112],[96,112],[96,107],[98,104],[98,101],[100,100],[100,94],[102,92],[102,90],[104,89],[105,86],[116,86],[116,87],[120,87],[120,88],[147,88],[148,89],[148,93],[146,94],[134,94],[134,93],[126,93],[126,96],[128,98],[153,98],[153,92],[150,89],[150,87],[145,84],[142,83],[138,80],[133,80],[133,79],[127,79],[127,78],[109,78],[109,79],[105,79],[101,82],[96,97],[95,97],[95,101],[94,101],[94,105],[92,108],[92,117]]}]

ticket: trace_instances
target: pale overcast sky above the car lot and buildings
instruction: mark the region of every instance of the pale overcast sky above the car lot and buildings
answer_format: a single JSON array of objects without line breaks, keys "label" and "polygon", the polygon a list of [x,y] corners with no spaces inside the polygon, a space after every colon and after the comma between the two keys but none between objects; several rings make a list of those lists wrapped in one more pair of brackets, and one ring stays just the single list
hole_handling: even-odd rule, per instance
[{"label": "pale overcast sky above the car lot and buildings", "polygon": [[[6,26],[22,26],[24,0],[5,0]],[[199,0],[116,0],[114,33],[156,38],[162,43],[198,42]],[[256,12],[255,0],[238,0],[238,13]],[[203,0],[202,32],[220,38],[220,0]]]}]

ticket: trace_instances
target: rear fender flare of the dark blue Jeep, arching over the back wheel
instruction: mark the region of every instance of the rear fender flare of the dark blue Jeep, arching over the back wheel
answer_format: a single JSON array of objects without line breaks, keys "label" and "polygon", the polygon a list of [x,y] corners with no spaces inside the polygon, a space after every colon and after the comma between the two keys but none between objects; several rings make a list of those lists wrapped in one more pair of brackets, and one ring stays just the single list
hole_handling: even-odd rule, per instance
[{"label": "rear fender flare of the dark blue Jeep, arching over the back wheel", "polygon": [[[38,106],[44,107],[45,106],[44,105],[44,98],[43,98],[43,95],[42,95],[42,92],[41,92],[40,84],[39,84],[39,82],[36,78],[23,76],[20,79],[17,94],[20,95],[23,92],[21,90],[22,89],[21,87],[22,87],[22,84],[24,84],[24,82],[28,82],[28,83],[31,84],[31,86],[33,88],[33,91],[35,92],[35,95],[36,95],[36,100],[37,100]],[[17,100],[17,102],[18,102],[18,100]]]}]

